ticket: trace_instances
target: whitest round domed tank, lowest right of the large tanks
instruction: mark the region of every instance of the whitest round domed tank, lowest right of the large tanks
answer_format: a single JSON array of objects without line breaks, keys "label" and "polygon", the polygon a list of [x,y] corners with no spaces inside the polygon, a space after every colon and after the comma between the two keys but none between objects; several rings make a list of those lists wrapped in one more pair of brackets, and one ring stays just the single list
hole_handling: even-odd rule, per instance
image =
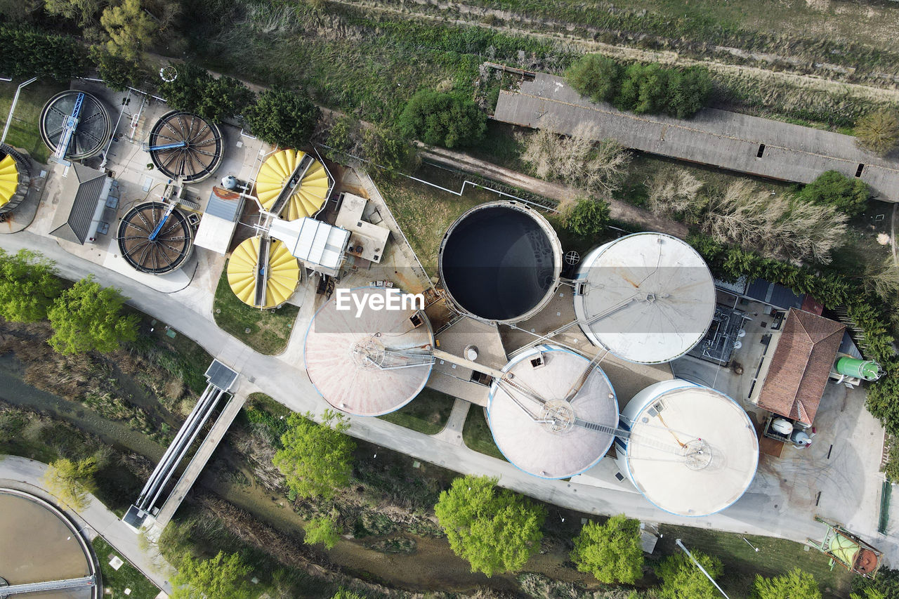
[{"label": "whitest round domed tank, lowest right of the large tanks", "polygon": [[715,514],[743,496],[759,464],[759,439],[743,407],[686,380],[643,389],[621,412],[618,465],[646,499],[670,514]]}]

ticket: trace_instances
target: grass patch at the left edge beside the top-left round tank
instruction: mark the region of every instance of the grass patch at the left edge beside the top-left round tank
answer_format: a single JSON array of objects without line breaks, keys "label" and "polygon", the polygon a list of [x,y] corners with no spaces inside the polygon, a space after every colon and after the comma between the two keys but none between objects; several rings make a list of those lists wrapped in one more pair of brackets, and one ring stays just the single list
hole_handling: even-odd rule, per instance
[{"label": "grass patch at the left edge beside the top-left round tank", "polygon": [[[9,107],[13,103],[15,90],[20,81],[0,82],[0,120],[6,124],[9,115]],[[23,148],[40,163],[47,163],[49,149],[40,139],[38,120],[40,110],[44,107],[50,96],[65,89],[67,85],[55,83],[43,83],[36,81],[22,89],[19,95],[19,103],[16,104],[13,122],[9,133],[6,134],[6,143],[13,148]]]}]

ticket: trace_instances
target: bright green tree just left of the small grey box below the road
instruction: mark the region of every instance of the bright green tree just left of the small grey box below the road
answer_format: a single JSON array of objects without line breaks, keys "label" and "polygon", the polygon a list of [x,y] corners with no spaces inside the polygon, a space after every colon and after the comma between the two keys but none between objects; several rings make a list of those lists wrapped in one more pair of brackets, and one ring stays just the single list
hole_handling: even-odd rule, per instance
[{"label": "bright green tree just left of the small grey box below the road", "polygon": [[571,560],[579,571],[592,574],[601,583],[633,585],[643,576],[640,522],[619,514],[604,524],[584,524],[574,537]]}]

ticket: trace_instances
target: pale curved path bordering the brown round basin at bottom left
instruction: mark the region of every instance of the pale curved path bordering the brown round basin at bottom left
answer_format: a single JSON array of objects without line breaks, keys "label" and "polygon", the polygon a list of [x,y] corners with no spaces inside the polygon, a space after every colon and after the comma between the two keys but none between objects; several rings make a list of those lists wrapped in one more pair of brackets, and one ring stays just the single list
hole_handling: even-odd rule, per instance
[{"label": "pale curved path bordering the brown round basin at bottom left", "polygon": [[[62,507],[63,504],[58,498],[44,487],[43,480],[47,469],[47,464],[40,461],[0,455],[0,487],[25,491]],[[174,576],[174,568],[165,561],[155,546],[142,546],[140,538],[128,524],[123,523],[119,516],[102,505],[99,499],[90,494],[88,499],[85,509],[63,509],[88,539],[93,540],[98,535],[102,537],[154,585],[163,589],[165,595],[162,596],[168,596],[172,592],[169,581]],[[98,558],[102,560],[105,556]]]}]

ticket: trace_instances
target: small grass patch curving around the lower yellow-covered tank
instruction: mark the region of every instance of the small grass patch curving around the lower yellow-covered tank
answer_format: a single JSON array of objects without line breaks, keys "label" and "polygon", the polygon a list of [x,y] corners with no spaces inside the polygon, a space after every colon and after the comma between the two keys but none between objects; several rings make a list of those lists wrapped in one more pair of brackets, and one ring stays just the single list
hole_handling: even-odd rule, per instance
[{"label": "small grass patch curving around the lower yellow-covered tank", "polygon": [[[277,355],[284,351],[299,308],[284,304],[273,310],[247,306],[227,284],[227,269],[222,272],[212,304],[216,324],[259,353]],[[249,333],[247,333],[249,329]]]}]

